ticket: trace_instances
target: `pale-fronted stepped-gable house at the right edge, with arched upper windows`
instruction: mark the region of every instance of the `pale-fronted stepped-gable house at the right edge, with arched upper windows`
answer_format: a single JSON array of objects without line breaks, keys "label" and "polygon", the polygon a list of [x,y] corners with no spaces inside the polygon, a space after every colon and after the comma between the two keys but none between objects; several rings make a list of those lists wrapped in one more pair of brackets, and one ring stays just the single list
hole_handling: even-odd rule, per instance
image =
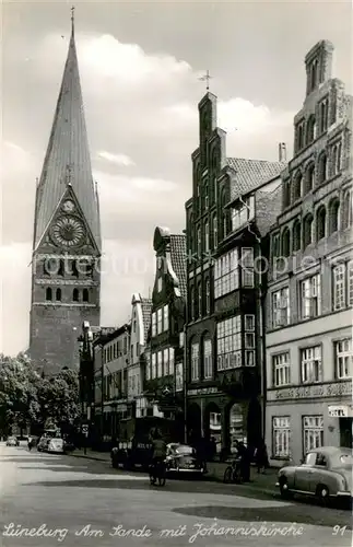
[{"label": "pale-fronted stepped-gable house at the right edge, with arched upper windows", "polygon": [[273,465],[352,445],[352,97],[333,46],[305,58],[306,96],[271,230],[267,444]]}]

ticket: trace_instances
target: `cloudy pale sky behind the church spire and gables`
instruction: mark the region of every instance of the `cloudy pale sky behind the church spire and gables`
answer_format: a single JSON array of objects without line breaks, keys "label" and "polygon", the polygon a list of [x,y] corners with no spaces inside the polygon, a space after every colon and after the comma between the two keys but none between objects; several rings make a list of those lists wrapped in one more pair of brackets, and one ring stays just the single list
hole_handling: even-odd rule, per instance
[{"label": "cloudy pale sky behind the church spire and gables", "polygon": [[[351,85],[348,2],[80,2],[75,35],[104,253],[102,324],[149,294],[156,225],[184,229],[198,146],[200,74],[210,70],[227,155],[278,159],[292,151],[305,91],[304,57],[336,47],[334,75]],[[70,35],[70,4],[2,7],[2,231],[0,351],[28,344],[35,181],[40,176]]]}]

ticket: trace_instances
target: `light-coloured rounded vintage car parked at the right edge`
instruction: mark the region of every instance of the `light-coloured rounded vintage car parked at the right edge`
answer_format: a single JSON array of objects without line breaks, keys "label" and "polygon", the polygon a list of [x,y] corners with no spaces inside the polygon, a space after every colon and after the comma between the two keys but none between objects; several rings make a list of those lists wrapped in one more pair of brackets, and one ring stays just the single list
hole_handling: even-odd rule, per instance
[{"label": "light-coloured rounded vintage car parked at the right edge", "polygon": [[352,463],[351,449],[314,449],[306,454],[303,464],[282,467],[276,486],[283,498],[305,493],[321,500],[330,497],[352,499]]}]

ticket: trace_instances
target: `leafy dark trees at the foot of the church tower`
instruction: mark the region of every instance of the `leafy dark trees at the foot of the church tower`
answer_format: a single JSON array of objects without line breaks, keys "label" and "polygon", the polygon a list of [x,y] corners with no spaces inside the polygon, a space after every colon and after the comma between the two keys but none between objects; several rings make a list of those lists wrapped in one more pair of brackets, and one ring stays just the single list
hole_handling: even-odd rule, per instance
[{"label": "leafy dark trees at the foot of the church tower", "polygon": [[0,430],[27,423],[45,427],[73,426],[80,417],[78,373],[61,370],[54,376],[43,373],[43,365],[20,353],[0,356]]}]

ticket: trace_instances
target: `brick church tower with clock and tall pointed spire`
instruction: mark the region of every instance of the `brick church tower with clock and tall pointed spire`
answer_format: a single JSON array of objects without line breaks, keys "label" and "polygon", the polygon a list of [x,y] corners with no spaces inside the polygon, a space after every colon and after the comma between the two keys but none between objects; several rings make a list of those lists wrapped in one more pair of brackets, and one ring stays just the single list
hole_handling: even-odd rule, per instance
[{"label": "brick church tower with clock and tall pointed spire", "polygon": [[83,112],[74,20],[47,153],[36,188],[30,354],[79,365],[83,321],[99,325],[101,221]]}]

